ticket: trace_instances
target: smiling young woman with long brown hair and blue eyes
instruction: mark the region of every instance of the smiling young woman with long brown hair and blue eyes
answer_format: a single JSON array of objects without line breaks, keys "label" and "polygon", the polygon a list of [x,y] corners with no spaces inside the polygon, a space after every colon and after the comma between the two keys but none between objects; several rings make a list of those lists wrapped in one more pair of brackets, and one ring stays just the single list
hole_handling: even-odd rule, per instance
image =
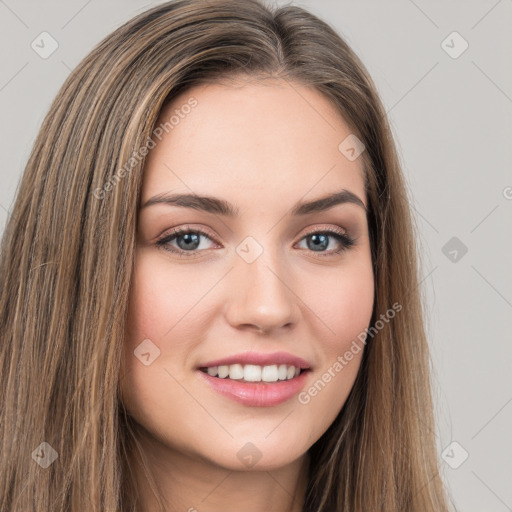
[{"label": "smiling young woman with long brown hair and blue eyes", "polygon": [[179,0],[107,37],[0,265],[2,510],[448,510],[385,111],[305,10]]}]

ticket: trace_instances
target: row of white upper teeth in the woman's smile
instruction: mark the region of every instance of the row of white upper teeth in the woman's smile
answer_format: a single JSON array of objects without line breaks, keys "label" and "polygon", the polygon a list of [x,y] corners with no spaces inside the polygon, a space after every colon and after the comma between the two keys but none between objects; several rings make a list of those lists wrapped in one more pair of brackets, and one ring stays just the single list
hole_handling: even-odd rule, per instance
[{"label": "row of white upper teeth in the woman's smile", "polygon": [[233,380],[244,379],[247,382],[276,382],[278,380],[290,380],[300,375],[300,368],[286,364],[272,364],[258,366],[255,364],[230,364],[211,366],[206,369],[208,375]]}]

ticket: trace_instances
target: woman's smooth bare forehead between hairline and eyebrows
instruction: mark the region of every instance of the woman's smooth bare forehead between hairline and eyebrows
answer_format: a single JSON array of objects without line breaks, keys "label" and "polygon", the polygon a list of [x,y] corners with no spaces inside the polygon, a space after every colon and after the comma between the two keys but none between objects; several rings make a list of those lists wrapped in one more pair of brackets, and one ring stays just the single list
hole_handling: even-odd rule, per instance
[{"label": "woman's smooth bare forehead between hairline and eyebrows", "polygon": [[297,199],[340,187],[364,200],[362,158],[339,149],[350,127],[311,87],[279,79],[193,87],[162,110],[159,126],[142,201],[169,190],[241,198],[286,190]]}]

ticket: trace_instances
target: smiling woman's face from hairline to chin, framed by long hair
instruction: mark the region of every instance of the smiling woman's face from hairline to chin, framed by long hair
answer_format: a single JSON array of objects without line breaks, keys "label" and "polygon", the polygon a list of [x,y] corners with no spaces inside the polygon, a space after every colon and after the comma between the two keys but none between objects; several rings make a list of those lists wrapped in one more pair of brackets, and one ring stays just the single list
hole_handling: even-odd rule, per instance
[{"label": "smiling woman's face from hairline to chin, framed by long hair", "polygon": [[195,87],[157,122],[121,381],[156,456],[282,467],[354,383],[374,294],[361,148],[292,85]]}]

